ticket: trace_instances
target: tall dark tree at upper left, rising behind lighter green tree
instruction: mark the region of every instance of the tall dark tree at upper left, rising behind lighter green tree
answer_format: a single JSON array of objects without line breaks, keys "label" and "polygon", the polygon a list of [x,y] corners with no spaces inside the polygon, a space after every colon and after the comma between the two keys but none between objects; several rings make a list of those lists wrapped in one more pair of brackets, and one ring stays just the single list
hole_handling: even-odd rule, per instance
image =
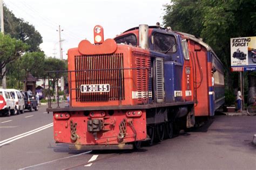
[{"label": "tall dark tree at upper left, rising behind lighter green tree", "polygon": [[16,18],[8,8],[4,6],[4,31],[12,38],[22,40],[29,45],[28,51],[41,51],[39,45],[43,43],[41,34],[33,25],[23,19]]}]

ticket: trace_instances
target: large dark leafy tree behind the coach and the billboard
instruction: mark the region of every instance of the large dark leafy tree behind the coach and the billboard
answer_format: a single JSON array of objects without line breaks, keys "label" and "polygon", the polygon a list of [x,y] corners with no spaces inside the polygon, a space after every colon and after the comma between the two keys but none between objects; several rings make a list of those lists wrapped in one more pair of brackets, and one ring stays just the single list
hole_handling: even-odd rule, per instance
[{"label": "large dark leafy tree behind the coach and the billboard", "polygon": [[[226,89],[233,88],[237,73],[230,71],[230,38],[256,35],[256,2],[250,0],[172,0],[165,5],[163,17],[173,30],[191,33],[204,39],[224,63]],[[255,72],[248,73],[249,83],[255,82]],[[249,87],[252,85],[249,84]],[[254,86],[255,88],[255,86]],[[251,88],[252,89],[252,88]],[[254,90],[255,92],[255,90]],[[252,92],[249,92],[252,95]]]}]

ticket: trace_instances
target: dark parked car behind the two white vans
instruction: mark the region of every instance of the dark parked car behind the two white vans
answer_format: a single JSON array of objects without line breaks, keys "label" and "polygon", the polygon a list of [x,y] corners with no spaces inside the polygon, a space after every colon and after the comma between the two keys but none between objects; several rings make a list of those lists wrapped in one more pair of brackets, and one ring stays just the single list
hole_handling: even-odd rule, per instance
[{"label": "dark parked car behind the two white vans", "polygon": [[32,108],[35,111],[38,111],[38,103],[36,100],[35,94],[33,94],[31,91],[25,91],[22,92],[24,101],[25,101],[25,109],[28,109],[30,112],[32,112]]}]

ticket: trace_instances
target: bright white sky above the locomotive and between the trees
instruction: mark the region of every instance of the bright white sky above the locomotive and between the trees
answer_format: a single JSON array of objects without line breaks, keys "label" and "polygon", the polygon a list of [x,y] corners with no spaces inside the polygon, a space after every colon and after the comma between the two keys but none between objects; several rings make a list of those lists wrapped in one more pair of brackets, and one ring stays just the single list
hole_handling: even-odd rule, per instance
[{"label": "bright white sky above the locomotive and between the trees", "polygon": [[3,0],[17,18],[23,18],[41,33],[41,50],[48,57],[59,58],[59,25],[63,59],[83,39],[93,43],[93,28],[102,25],[104,38],[116,35],[139,24],[163,24],[164,6],[170,0]]}]

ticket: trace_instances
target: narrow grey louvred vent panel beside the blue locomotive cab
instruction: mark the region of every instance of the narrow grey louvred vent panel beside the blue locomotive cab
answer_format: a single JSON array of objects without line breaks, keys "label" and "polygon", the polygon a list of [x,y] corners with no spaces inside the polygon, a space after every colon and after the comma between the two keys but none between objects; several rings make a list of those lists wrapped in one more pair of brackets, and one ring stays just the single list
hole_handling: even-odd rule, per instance
[{"label": "narrow grey louvred vent panel beside the blue locomotive cab", "polygon": [[165,98],[163,58],[156,58],[156,97],[158,103],[163,102]]}]

